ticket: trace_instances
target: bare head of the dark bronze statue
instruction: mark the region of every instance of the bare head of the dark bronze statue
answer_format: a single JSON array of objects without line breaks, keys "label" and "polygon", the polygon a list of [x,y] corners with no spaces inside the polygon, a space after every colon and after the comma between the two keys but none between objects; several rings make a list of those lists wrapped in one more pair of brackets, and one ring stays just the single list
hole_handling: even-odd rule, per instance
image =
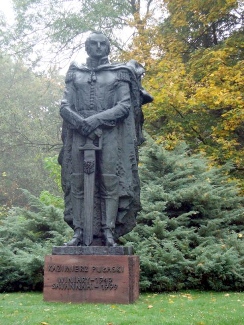
[{"label": "bare head of the dark bronze statue", "polygon": [[85,51],[89,57],[100,59],[110,53],[108,38],[100,31],[90,34],[85,41]]}]

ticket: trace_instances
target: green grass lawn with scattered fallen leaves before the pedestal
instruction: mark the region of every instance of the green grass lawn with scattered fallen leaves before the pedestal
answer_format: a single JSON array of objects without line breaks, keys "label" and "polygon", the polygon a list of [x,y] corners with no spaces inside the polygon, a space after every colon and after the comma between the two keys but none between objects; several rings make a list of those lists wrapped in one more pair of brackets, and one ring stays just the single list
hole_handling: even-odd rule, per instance
[{"label": "green grass lawn with scattered fallen leaves before the pedestal", "polygon": [[41,293],[0,294],[0,324],[243,325],[244,293],[142,294],[132,305],[47,303]]}]

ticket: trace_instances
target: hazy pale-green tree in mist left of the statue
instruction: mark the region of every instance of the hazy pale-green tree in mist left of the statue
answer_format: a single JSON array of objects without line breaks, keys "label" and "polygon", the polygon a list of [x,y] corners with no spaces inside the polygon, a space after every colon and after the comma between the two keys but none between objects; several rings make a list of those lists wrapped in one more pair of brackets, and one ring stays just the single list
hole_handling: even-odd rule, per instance
[{"label": "hazy pale-green tree in mist left of the statue", "polygon": [[0,204],[11,205],[21,201],[18,188],[39,194],[52,184],[43,158],[60,146],[63,89],[60,77],[36,74],[21,60],[1,58],[0,74]]}]

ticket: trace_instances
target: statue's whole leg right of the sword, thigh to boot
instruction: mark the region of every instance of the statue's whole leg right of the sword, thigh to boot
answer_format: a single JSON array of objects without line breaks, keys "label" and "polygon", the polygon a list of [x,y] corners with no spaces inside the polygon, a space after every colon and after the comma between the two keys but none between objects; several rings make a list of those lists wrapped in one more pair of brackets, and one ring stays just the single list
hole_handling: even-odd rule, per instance
[{"label": "statue's whole leg right of the sword, thigh to boot", "polygon": [[119,199],[119,178],[116,175],[117,157],[117,128],[113,128],[104,132],[103,147],[99,152],[102,229],[106,246],[117,245],[114,242]]}]

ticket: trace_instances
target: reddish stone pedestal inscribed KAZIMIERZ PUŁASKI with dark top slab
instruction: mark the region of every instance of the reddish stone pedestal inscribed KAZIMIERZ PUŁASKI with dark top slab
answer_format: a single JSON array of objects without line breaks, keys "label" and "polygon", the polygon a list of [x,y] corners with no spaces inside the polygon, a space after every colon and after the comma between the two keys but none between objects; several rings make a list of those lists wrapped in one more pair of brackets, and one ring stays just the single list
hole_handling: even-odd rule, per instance
[{"label": "reddish stone pedestal inscribed KAZIMIERZ PU\u0141ASKI with dark top slab", "polygon": [[139,256],[125,253],[130,254],[132,250],[124,247],[53,247],[55,255],[45,256],[44,300],[133,303],[139,297]]}]

